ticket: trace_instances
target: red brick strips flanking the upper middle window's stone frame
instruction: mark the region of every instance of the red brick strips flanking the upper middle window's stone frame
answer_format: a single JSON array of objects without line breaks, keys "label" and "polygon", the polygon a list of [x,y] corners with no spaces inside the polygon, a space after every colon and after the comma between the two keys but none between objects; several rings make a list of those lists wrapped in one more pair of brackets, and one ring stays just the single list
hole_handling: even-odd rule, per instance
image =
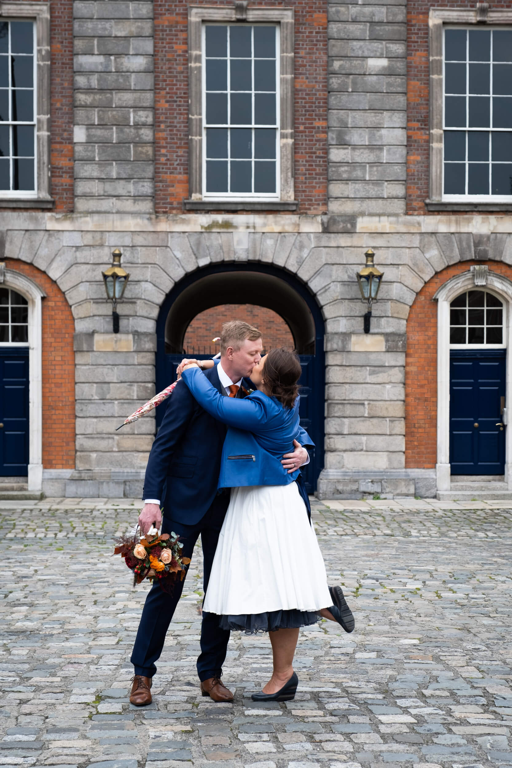
[{"label": "red brick strips flanking the upper middle window's stone frame", "polygon": [[[188,48],[185,0],[155,0],[155,210],[183,210],[188,197]],[[221,5],[226,0],[197,0]],[[251,8],[282,6],[277,0]],[[327,206],[327,2],[289,0],[295,9],[295,195],[300,212]]]}]

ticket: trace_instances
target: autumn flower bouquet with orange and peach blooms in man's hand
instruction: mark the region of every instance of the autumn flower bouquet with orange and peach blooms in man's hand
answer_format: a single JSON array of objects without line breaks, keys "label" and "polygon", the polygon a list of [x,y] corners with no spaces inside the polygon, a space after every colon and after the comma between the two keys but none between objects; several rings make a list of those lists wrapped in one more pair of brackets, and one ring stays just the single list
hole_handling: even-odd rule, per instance
[{"label": "autumn flower bouquet with orange and peach blooms in man's hand", "polygon": [[[138,528],[138,526],[137,526]],[[184,558],[181,551],[183,544],[180,537],[171,532],[154,538],[139,538],[137,529],[134,536],[124,535],[116,539],[114,554],[121,554],[130,571],[134,573],[134,586],[145,578],[157,582],[165,592],[172,591],[178,577],[183,581],[190,563],[190,558]]]}]

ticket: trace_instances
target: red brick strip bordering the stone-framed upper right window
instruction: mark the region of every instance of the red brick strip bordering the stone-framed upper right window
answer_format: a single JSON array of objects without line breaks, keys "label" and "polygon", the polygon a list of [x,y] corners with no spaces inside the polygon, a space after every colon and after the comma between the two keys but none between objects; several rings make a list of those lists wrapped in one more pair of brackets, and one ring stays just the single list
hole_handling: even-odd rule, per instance
[{"label": "red brick strip bordering the stone-framed upper right window", "polygon": [[[474,8],[475,5],[471,5]],[[407,212],[428,214],[424,200],[428,198],[429,180],[429,58],[428,12],[430,8],[470,8],[464,0],[408,0],[407,4]],[[510,0],[496,0],[493,11],[512,8]],[[431,211],[434,216],[439,214]],[[457,212],[461,213],[461,212]],[[464,212],[462,212],[464,213]],[[468,214],[474,215],[468,211]],[[504,214],[507,215],[507,214]]]}]

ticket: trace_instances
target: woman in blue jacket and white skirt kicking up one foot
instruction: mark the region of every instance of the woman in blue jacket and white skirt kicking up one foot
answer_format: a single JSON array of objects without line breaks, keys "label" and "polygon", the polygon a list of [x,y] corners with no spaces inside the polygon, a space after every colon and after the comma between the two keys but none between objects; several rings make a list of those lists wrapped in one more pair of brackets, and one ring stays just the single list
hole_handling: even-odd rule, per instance
[{"label": "woman in blue jacket and white skirt kicking up one foot", "polygon": [[183,367],[183,382],[210,415],[228,425],[219,488],[232,488],[230,506],[206,591],[203,610],[219,615],[223,629],[268,631],[273,674],[253,700],[295,697],[299,678],[293,657],[299,627],[319,615],[345,631],[354,618],[341,587],[329,587],[325,565],[294,482],[299,470],[282,467],[299,430],[299,357],[272,349],[253,369],[256,391],[244,399],[223,397],[196,363]]}]

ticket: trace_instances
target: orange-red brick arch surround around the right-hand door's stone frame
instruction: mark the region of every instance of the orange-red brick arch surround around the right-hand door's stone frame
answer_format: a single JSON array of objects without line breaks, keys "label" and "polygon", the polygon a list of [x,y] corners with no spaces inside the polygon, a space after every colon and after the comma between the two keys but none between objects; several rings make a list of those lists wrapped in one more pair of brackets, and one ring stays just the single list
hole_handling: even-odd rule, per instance
[{"label": "orange-red brick arch surround around the right-hand door's stone frame", "polygon": [[[512,267],[497,261],[464,261],[448,266],[425,283],[411,306],[405,355],[405,466],[434,468],[438,435],[438,303],[434,293],[472,263],[512,280]],[[449,329],[446,329],[449,333]]]}]

